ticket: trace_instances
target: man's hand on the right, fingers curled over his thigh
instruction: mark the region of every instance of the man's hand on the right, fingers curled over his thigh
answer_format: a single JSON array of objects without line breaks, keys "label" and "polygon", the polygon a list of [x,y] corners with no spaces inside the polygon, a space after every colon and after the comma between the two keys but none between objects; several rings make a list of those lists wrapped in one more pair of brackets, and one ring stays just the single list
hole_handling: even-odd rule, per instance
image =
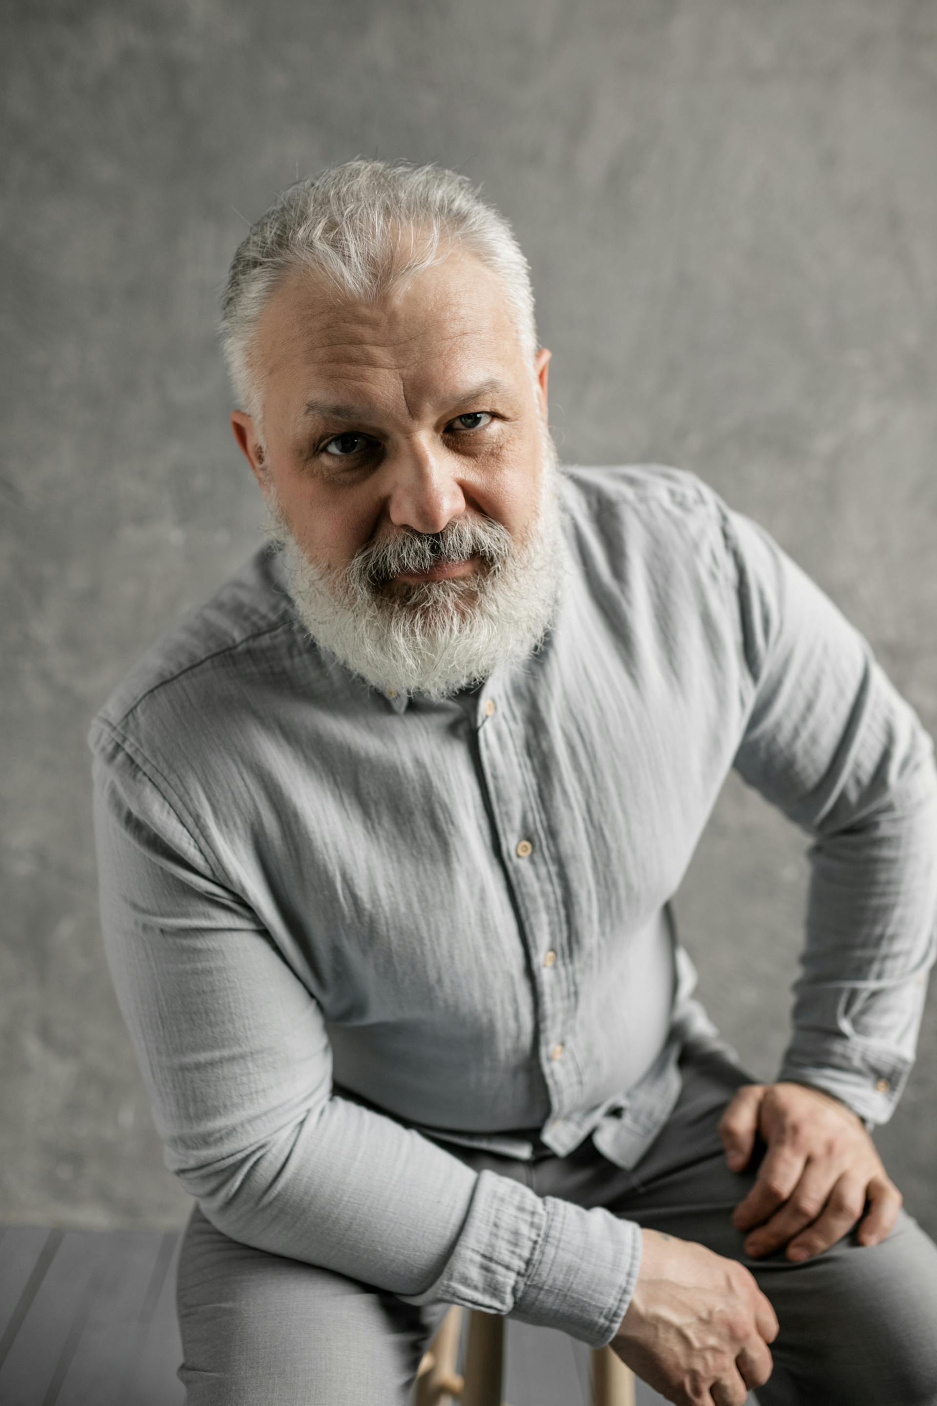
[{"label": "man's hand on the right, fingers curled over his thigh", "polygon": [[752,1230],[746,1254],[787,1244],[788,1260],[806,1260],[860,1218],[860,1244],[891,1233],[905,1198],[861,1118],[839,1098],[804,1084],[743,1084],[719,1119],[733,1171],[747,1166],[756,1133],[767,1152],[754,1187],[732,1213],[736,1229]]}]

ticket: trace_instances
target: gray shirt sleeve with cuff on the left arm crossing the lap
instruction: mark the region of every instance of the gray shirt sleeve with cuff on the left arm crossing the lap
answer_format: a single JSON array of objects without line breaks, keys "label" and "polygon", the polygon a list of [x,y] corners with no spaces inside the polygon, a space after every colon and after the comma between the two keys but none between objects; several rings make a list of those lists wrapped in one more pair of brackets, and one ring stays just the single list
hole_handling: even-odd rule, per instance
[{"label": "gray shirt sleeve with cuff on the left arm crossing the lap", "polygon": [[132,740],[93,725],[104,949],[164,1164],[225,1234],[399,1295],[614,1337],[641,1232],[334,1097],[322,1011]]}]

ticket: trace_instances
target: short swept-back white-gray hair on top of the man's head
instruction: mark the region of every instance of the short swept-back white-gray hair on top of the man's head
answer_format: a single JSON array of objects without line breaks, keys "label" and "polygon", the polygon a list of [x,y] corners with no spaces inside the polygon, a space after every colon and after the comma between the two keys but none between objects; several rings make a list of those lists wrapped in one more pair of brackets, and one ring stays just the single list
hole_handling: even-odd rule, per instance
[{"label": "short swept-back white-gray hair on top of the man's head", "polygon": [[500,278],[521,354],[534,377],[537,323],[530,264],[509,221],[468,176],[440,166],[355,157],[281,191],[242,239],[222,294],[221,343],[235,396],[261,433],[261,388],[250,347],[277,285],[295,269],[325,277],[336,297],[375,302],[438,264],[451,247]]}]

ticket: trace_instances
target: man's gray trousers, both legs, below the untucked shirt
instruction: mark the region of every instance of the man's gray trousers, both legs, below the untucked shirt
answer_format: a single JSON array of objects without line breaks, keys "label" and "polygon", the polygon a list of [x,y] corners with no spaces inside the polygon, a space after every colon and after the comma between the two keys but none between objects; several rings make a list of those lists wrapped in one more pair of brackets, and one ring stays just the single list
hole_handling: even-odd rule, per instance
[{"label": "man's gray trousers, both legs, below the untucked shirt", "polygon": [[[716,1123],[752,1076],[722,1053],[684,1052],[680,1099],[632,1171],[591,1139],[532,1163],[445,1143],[471,1167],[538,1195],[669,1230],[740,1260],[774,1305],[780,1333],[761,1406],[937,1406],[937,1246],[905,1209],[892,1233],[860,1246],[850,1232],[813,1260],[784,1249],[745,1254],[732,1225],[752,1166],[729,1171]],[[405,1406],[423,1351],[448,1305],[416,1308],[298,1260],[240,1244],[194,1206],[180,1251],[178,1376],[187,1406]]]}]

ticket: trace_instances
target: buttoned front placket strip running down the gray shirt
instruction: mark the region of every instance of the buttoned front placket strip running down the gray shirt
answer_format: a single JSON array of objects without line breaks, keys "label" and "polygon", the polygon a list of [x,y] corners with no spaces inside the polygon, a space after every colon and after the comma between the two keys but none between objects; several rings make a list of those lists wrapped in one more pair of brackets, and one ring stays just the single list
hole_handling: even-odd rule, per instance
[{"label": "buttoned front placket strip running down the gray shirt", "polygon": [[478,758],[514,896],[534,986],[539,1067],[551,1099],[544,1142],[563,1154],[577,1139],[565,1121],[582,1099],[575,1047],[576,980],[556,858],[541,807],[537,778],[523,740],[523,721],[507,693],[493,686],[478,702]]}]

